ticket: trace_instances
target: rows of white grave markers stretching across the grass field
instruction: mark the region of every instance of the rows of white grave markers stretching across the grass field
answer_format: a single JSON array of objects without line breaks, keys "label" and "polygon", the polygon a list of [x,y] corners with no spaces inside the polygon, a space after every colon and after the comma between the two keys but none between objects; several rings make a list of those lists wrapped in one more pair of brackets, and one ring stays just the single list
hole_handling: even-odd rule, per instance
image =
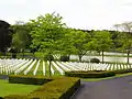
[{"label": "rows of white grave markers stretching across the grass field", "polygon": [[[36,59],[0,59],[0,74],[11,74],[15,75],[22,73],[28,75],[31,69],[35,66],[32,75],[37,75],[37,70],[41,61]],[[55,75],[58,72],[61,75],[65,75],[65,72],[70,70],[117,70],[117,69],[128,69],[132,68],[132,65],[127,64],[92,64],[92,63],[77,63],[77,62],[52,62],[51,73]],[[50,65],[50,62],[47,62]],[[46,75],[46,63],[42,61],[42,74]]]}]

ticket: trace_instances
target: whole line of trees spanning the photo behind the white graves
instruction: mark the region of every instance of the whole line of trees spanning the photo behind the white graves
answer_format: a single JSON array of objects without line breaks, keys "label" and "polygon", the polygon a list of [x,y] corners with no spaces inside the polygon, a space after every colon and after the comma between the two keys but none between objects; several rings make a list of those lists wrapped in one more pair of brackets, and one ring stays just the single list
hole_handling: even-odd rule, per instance
[{"label": "whole line of trees spanning the photo behind the white graves", "polygon": [[0,52],[6,54],[42,52],[46,61],[53,55],[78,55],[79,61],[88,51],[102,55],[108,51],[128,53],[132,51],[132,22],[114,25],[116,31],[88,31],[72,29],[63,22],[58,13],[47,13],[24,23],[18,21],[10,25],[0,21]]}]

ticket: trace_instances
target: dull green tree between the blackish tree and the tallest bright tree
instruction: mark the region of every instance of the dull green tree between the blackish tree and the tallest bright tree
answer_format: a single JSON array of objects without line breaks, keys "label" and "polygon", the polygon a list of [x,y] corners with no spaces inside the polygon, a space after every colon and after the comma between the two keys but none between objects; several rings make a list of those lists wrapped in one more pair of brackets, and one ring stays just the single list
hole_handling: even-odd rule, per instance
[{"label": "dull green tree between the blackish tree and the tallest bright tree", "polygon": [[25,50],[30,48],[31,44],[31,36],[30,36],[30,29],[24,22],[18,21],[14,25],[12,25],[14,34],[12,38],[12,47],[14,47],[18,52],[23,53]]}]

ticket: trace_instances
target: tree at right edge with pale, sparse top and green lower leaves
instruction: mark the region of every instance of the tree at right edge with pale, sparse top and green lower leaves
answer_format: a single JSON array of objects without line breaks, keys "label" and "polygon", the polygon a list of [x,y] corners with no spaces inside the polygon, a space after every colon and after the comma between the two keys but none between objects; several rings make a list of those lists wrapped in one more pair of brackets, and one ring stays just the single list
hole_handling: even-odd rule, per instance
[{"label": "tree at right edge with pale, sparse top and green lower leaves", "polygon": [[118,28],[118,31],[122,32],[121,33],[122,35],[120,35],[120,42],[122,43],[120,50],[127,52],[128,54],[127,63],[129,64],[129,57],[132,51],[132,22],[124,22],[116,25]]}]

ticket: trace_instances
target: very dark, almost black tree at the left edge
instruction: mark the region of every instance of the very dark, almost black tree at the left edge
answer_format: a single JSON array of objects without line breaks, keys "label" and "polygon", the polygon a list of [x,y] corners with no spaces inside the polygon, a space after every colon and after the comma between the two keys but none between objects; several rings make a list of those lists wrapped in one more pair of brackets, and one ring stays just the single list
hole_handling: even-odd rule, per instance
[{"label": "very dark, almost black tree at the left edge", "polygon": [[4,53],[10,47],[12,41],[12,30],[10,24],[0,20],[0,52]]}]

